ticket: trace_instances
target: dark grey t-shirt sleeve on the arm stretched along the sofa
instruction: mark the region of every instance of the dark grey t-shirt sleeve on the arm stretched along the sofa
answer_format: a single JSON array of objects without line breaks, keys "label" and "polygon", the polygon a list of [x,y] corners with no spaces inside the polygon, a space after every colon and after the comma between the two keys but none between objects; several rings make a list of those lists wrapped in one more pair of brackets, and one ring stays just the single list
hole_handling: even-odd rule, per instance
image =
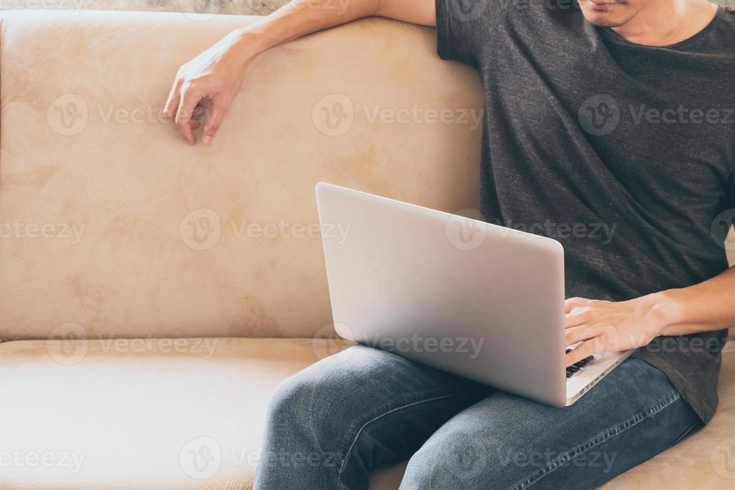
[{"label": "dark grey t-shirt sleeve on the arm stretched along the sofa", "polygon": [[501,0],[436,0],[437,53],[442,60],[478,66],[478,48],[502,15]]}]

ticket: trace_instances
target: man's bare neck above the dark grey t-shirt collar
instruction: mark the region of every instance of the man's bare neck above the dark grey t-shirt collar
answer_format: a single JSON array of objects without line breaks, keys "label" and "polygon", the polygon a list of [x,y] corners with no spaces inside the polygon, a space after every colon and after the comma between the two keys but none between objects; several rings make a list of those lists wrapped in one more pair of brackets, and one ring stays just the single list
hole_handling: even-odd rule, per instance
[{"label": "man's bare neck above the dark grey t-shirt collar", "polygon": [[708,0],[656,0],[613,30],[631,43],[669,46],[700,32],[715,15],[717,5]]}]

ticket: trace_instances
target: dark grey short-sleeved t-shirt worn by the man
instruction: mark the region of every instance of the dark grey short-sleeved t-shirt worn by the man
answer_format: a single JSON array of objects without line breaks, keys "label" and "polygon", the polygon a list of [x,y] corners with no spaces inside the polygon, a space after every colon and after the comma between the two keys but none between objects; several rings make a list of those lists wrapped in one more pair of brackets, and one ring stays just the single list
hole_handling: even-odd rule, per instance
[{"label": "dark grey short-sleeved t-shirt worn by the man", "polygon": [[[481,211],[562,242],[567,298],[638,298],[727,269],[734,11],[651,47],[571,0],[437,0],[437,32],[440,57],[484,86]],[[725,335],[659,337],[634,356],[708,422]]]}]

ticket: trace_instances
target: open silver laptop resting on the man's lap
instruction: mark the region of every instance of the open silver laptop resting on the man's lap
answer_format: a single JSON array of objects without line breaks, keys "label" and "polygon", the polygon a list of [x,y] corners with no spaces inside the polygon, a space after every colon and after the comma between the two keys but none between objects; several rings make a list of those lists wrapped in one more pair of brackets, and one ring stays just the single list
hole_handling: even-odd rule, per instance
[{"label": "open silver laptop resting on the man's lap", "polygon": [[559,407],[631,354],[565,369],[556,240],[323,182],[316,195],[345,339]]}]

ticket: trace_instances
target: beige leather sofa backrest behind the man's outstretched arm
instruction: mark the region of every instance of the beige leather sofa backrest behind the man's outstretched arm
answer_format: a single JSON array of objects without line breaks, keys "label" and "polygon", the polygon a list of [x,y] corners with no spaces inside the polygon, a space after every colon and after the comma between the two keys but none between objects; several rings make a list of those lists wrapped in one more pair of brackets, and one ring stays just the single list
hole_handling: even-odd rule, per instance
[{"label": "beige leather sofa backrest behind the man's outstretched arm", "polygon": [[171,83],[257,18],[0,18],[4,339],[312,336],[331,323],[318,181],[478,207],[478,76],[433,29],[369,19],[269,51],[205,148],[162,120]]}]

